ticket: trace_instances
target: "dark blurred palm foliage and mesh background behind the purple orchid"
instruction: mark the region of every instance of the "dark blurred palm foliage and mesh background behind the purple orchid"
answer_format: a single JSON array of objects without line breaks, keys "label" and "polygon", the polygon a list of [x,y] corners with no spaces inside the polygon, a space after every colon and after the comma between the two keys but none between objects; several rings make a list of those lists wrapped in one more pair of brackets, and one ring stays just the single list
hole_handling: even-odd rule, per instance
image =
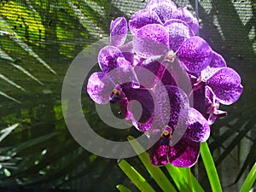
[{"label": "dark blurred palm foliage and mesh background behind the purple orchid", "polygon": [[[175,2],[195,9],[194,0]],[[61,85],[73,58],[96,40],[108,37],[111,20],[118,16],[128,19],[145,3],[0,2],[1,187],[113,191],[123,183],[132,191],[137,190],[119,170],[116,160],[90,154],[71,137],[61,111]],[[228,65],[241,74],[244,85],[239,102],[222,107],[229,115],[212,125],[209,140],[220,177],[226,177],[220,180],[228,191],[256,160],[256,9],[253,0],[204,0],[199,4],[199,17],[201,37],[224,55]],[[135,129],[117,131],[104,125],[85,91],[82,96],[84,116],[102,137],[125,140],[127,135],[139,134]],[[9,127],[14,125],[17,126],[11,130]],[[6,130],[8,134],[2,137]],[[137,157],[128,161],[143,170]],[[146,171],[140,173],[157,189]],[[234,176],[231,180],[230,175]],[[201,162],[199,179],[207,189]]]}]

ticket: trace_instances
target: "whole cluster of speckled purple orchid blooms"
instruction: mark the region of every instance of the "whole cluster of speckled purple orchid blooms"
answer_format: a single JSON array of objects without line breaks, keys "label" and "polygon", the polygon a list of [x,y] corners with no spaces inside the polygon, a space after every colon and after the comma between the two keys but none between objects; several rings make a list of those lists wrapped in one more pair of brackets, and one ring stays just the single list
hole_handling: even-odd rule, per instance
[{"label": "whole cluster of speckled purple orchid blooms", "polygon": [[239,74],[196,36],[198,30],[188,9],[149,0],[128,22],[111,22],[110,44],[98,55],[102,72],[92,73],[87,84],[94,102],[119,105],[125,119],[148,135],[154,166],[193,166],[210,125],[226,115],[220,104],[241,96]]}]

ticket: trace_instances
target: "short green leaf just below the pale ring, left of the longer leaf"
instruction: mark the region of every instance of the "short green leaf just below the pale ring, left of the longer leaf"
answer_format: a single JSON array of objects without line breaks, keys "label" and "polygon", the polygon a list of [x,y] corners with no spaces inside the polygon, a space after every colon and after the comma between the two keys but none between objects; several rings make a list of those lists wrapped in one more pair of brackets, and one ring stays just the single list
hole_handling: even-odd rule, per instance
[{"label": "short green leaf just below the pale ring, left of the longer leaf", "polygon": [[127,177],[130,178],[131,182],[137,186],[137,189],[145,192],[154,192],[154,189],[148,184],[145,178],[138,173],[126,160],[119,160],[119,167]]}]

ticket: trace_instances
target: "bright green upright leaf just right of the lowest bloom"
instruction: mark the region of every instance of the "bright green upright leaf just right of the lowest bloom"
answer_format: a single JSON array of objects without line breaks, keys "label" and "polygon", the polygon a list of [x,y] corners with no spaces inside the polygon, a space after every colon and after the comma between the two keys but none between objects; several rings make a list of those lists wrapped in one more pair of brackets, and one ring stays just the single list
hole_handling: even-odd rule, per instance
[{"label": "bright green upright leaf just right of the lowest bloom", "polygon": [[212,187],[212,192],[221,192],[221,185],[218,179],[218,172],[216,166],[212,160],[212,154],[208,148],[207,142],[201,143],[201,159],[203,160],[204,166],[207,170],[207,176]]}]

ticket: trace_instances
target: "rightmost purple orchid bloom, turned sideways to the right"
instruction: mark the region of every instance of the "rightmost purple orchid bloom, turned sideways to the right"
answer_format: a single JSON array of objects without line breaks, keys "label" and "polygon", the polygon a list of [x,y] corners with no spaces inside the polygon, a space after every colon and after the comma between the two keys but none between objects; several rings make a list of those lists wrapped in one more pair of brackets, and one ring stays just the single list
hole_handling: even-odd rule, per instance
[{"label": "rightmost purple orchid bloom, turned sideways to the right", "polygon": [[[227,113],[219,110],[219,105],[230,105],[241,96],[243,87],[238,73],[227,67],[224,58],[212,53],[212,62],[201,72],[197,81],[192,80],[194,108],[199,110],[209,125]],[[204,100],[205,99],[205,100]]]}]

